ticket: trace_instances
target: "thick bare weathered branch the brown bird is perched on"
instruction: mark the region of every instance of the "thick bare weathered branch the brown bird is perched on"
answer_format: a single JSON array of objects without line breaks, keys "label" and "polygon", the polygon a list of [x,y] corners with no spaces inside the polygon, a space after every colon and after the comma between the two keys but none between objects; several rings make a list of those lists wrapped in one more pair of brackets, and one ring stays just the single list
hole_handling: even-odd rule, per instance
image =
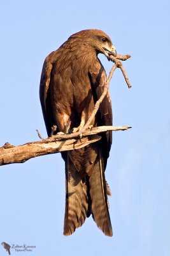
[{"label": "thick bare weathered branch the brown bird is perched on", "polygon": [[113,126],[100,126],[86,130],[83,134],[83,138],[80,136],[77,138],[56,139],[55,136],[47,138],[42,141],[34,141],[25,143],[24,145],[14,146],[9,143],[5,143],[0,148],[0,166],[4,164],[12,163],[24,163],[32,157],[44,156],[47,154],[55,154],[66,150],[74,150],[85,147],[90,143],[94,143],[101,139],[98,134],[106,131],[124,131],[131,127],[113,127]]}]

